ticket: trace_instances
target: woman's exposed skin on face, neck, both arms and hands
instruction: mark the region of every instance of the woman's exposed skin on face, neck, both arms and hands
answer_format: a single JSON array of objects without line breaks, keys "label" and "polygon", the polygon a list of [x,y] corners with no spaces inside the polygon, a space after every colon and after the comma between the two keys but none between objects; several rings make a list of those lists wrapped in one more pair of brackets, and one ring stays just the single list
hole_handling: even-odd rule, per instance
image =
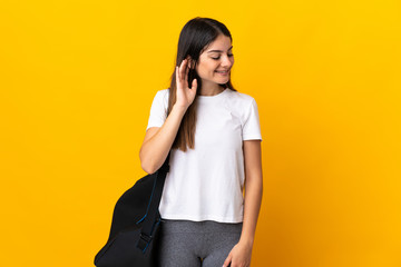
[{"label": "woman's exposed skin on face, neck, both arms and hands", "polygon": [[[214,96],[224,90],[219,83],[229,80],[229,72],[224,76],[216,70],[231,70],[234,63],[231,39],[219,36],[199,56],[196,71],[202,79],[202,96]],[[221,50],[221,52],[209,52]],[[143,169],[155,172],[165,161],[173,145],[182,118],[187,108],[193,103],[197,81],[194,80],[192,88],[188,87],[188,70],[194,66],[190,58],[185,59],[179,67],[176,67],[177,100],[167,117],[165,123],[159,127],[149,128],[146,131],[144,144],[139,151]],[[157,149],[155,149],[157,148]],[[162,150],[162,152],[160,152]],[[245,196],[244,196],[244,219],[239,241],[233,247],[223,267],[250,267],[257,217],[262,202],[263,177],[261,140],[243,141],[244,165],[245,165]]]}]

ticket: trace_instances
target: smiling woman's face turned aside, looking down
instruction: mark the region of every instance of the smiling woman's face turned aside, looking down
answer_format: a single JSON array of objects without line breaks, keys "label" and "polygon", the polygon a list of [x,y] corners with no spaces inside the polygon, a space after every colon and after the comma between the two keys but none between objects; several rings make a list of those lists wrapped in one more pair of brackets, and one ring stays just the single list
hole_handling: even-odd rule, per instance
[{"label": "smiling woman's face turned aside, looking down", "polygon": [[196,72],[203,87],[226,83],[229,80],[234,55],[229,37],[219,34],[199,56]]}]

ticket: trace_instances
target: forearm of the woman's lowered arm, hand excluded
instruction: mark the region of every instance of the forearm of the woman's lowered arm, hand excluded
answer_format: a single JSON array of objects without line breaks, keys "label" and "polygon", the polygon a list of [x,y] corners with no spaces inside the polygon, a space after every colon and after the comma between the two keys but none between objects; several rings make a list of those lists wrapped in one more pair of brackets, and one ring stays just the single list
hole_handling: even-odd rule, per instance
[{"label": "forearm of the woman's lowered arm, hand excluded", "polygon": [[239,243],[253,246],[262,195],[262,172],[248,176],[245,180],[244,220]]}]

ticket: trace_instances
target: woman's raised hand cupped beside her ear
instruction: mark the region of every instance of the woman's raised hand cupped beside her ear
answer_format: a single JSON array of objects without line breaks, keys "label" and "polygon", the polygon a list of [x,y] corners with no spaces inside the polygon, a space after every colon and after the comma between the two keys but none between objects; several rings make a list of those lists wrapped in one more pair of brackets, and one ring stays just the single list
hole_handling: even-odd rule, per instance
[{"label": "woman's raised hand cupped beside her ear", "polygon": [[197,89],[196,79],[193,80],[192,88],[188,87],[188,59],[184,59],[180,66],[176,67],[177,100],[175,105],[185,109],[194,101]]}]

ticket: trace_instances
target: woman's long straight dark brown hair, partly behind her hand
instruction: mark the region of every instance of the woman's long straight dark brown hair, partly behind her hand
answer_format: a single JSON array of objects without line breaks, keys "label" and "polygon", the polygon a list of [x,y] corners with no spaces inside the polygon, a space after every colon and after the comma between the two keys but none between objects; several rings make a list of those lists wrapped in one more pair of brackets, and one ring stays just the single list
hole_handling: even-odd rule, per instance
[{"label": "woman's long straight dark brown hair, partly behind her hand", "polygon": [[[233,38],[225,24],[214,19],[199,17],[189,20],[179,33],[176,66],[180,66],[184,59],[186,59],[188,56],[190,57],[193,66],[188,72],[188,87],[190,88],[193,79],[196,79],[197,95],[199,93],[202,88],[202,79],[196,73],[195,69],[197,61],[200,53],[205,49],[207,49],[207,47],[221,34],[229,37],[231,41],[233,42]],[[225,85],[221,86],[236,91],[233,88],[231,78]],[[176,102],[176,70],[174,70],[169,87],[167,116],[169,115],[174,103]],[[178,148],[183,151],[186,151],[187,147],[195,147],[196,107],[197,100],[195,97],[194,102],[188,107],[185,116],[183,117],[182,123],[179,126],[176,139],[174,140],[172,148]]]}]

